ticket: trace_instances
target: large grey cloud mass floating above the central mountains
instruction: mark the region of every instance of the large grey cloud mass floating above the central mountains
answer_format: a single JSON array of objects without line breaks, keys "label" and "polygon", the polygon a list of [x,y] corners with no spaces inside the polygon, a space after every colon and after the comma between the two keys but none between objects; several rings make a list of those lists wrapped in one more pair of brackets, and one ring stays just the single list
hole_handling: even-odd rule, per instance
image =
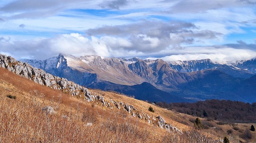
[{"label": "large grey cloud mass floating above the central mountains", "polygon": [[[144,53],[166,48],[181,48],[180,44],[193,44],[204,39],[218,39],[219,32],[199,30],[191,22],[159,22],[143,20],[120,26],[102,26],[86,31],[88,36],[122,37],[132,43],[130,49]],[[114,45],[113,45],[114,46]]]}]

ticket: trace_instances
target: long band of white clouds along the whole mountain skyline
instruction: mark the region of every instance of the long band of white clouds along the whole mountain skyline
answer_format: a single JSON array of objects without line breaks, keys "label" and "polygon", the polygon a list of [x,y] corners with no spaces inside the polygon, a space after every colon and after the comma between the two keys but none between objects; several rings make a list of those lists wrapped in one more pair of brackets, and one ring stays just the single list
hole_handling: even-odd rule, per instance
[{"label": "long band of white clouds along the whole mountain skyline", "polygon": [[[151,41],[153,47],[154,44],[159,42],[145,35],[139,35],[139,37],[141,40],[144,39],[144,42]],[[152,43],[152,41],[155,41],[155,43]],[[255,44],[242,44],[247,45],[247,47],[256,47]],[[49,39],[15,41],[13,43],[0,41],[0,46],[2,47],[1,53],[11,53],[17,60],[22,58],[45,60],[57,56],[59,53],[73,54],[74,56],[93,54],[103,57],[156,57],[165,61],[211,59],[221,63],[256,58],[255,49],[232,47],[230,45],[190,46],[180,49],[166,48],[143,51],[132,48],[134,44],[125,38],[85,37],[78,33],[61,34]]]}]

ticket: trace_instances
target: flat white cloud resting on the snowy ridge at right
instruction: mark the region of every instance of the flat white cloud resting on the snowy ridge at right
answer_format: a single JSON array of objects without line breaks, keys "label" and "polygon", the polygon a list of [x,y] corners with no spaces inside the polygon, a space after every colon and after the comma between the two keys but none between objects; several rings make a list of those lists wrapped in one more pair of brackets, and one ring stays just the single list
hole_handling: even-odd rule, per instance
[{"label": "flat white cloud resting on the snowy ridge at right", "polygon": [[256,58],[256,51],[251,49],[237,49],[229,46],[185,47],[182,50],[172,51],[171,53],[173,55],[161,58],[165,61],[211,59],[219,63],[230,63]]}]

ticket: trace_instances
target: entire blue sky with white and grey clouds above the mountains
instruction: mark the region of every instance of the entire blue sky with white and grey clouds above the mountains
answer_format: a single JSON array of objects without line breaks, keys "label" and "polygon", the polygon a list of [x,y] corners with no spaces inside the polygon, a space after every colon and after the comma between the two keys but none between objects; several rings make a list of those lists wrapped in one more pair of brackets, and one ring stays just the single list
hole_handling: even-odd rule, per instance
[{"label": "entire blue sky with white and grey clouds above the mountains", "polygon": [[249,60],[256,0],[2,0],[0,53]]}]

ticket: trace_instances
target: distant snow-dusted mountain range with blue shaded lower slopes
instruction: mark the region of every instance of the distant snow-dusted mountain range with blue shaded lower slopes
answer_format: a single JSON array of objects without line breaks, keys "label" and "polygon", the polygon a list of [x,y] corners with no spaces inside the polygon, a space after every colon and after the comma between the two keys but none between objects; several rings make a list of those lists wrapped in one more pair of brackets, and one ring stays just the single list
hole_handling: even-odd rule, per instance
[{"label": "distant snow-dusted mountain range with blue shaded lower slopes", "polygon": [[209,59],[102,58],[59,54],[47,60],[21,60],[80,85],[134,95],[136,99],[191,102],[230,99],[256,102],[256,60],[221,64]]}]

